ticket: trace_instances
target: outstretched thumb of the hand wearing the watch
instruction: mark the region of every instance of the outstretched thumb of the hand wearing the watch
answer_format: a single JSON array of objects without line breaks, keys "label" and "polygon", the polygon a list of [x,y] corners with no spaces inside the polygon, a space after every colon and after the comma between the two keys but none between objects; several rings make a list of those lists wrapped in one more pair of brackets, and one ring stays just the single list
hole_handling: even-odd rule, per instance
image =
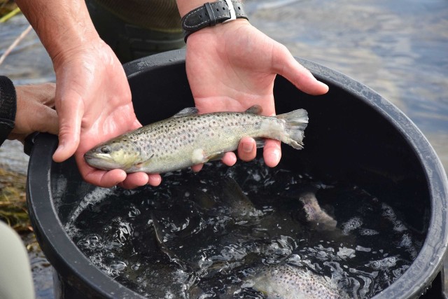
[{"label": "outstretched thumb of the hand wearing the watch", "polygon": [[277,74],[288,79],[303,92],[309,95],[323,95],[328,92],[328,85],[314,78],[313,74],[297,62],[288,49],[279,43],[276,44],[272,64]]}]

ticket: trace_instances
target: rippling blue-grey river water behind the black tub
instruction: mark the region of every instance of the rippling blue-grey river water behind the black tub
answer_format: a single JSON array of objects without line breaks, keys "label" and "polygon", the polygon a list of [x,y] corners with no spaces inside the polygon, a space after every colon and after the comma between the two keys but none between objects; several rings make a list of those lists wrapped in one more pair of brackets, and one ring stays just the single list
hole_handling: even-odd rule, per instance
[{"label": "rippling blue-grey river water behind the black tub", "polygon": [[[398,106],[448,169],[447,1],[246,0],[246,11],[255,27],[295,57],[340,71]],[[21,15],[0,25],[0,55],[27,26]],[[32,31],[0,65],[0,74],[16,84],[55,78]],[[22,145],[6,142],[0,165],[26,173]]]}]

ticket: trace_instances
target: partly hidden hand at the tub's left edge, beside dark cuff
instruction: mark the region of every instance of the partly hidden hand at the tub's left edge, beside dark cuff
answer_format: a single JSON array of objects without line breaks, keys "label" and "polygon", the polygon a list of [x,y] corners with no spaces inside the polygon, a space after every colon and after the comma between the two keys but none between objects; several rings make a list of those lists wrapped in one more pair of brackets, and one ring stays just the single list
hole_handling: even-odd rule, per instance
[{"label": "partly hidden hand at the tub's left edge, beside dark cuff", "polygon": [[15,126],[8,139],[22,143],[33,132],[57,134],[57,113],[55,109],[55,84],[20,85],[15,87],[17,109]]}]

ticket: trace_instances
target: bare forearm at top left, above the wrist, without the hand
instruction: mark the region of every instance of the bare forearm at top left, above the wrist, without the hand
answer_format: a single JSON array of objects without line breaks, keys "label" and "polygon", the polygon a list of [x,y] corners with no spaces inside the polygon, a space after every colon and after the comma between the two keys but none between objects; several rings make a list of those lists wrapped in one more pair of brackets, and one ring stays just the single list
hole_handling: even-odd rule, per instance
[{"label": "bare forearm at top left, above the wrist, without the hand", "polygon": [[52,60],[99,38],[85,1],[16,0],[16,3]]}]

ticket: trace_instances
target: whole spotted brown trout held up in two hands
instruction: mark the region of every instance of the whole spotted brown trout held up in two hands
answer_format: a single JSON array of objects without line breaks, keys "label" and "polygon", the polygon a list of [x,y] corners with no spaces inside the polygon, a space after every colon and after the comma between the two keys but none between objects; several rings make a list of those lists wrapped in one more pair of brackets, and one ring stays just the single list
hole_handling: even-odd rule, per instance
[{"label": "whole spotted brown trout held up in two hands", "polygon": [[278,116],[261,116],[261,111],[258,105],[245,112],[205,114],[186,108],[172,118],[99,144],[84,158],[98,169],[157,174],[221,159],[224,153],[235,151],[246,136],[303,148],[307,111],[297,109]]}]

